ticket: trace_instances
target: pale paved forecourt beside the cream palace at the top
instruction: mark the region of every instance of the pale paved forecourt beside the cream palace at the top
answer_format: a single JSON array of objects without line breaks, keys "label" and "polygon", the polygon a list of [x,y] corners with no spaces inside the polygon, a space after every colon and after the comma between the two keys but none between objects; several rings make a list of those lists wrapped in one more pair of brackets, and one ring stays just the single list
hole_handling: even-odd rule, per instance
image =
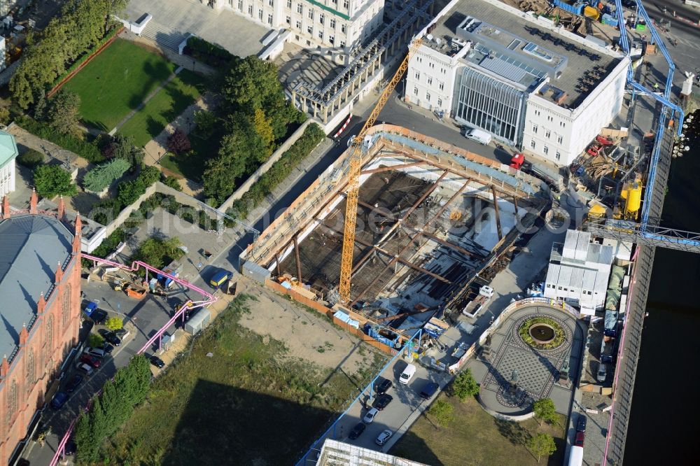
[{"label": "pale paved forecourt beside the cream palace at the top", "polygon": [[262,50],[262,36],[270,30],[232,11],[217,12],[206,2],[193,0],[131,0],[123,16],[135,21],[144,13],[153,15],[151,22],[160,30],[171,29],[174,35],[195,34],[239,57],[257,55]]}]

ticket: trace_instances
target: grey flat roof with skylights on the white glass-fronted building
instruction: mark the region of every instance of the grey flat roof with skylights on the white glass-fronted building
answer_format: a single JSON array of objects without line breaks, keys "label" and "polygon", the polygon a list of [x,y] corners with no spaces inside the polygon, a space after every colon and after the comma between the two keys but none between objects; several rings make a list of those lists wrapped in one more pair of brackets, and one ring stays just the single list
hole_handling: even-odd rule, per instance
[{"label": "grey flat roof with skylights on the white glass-fronted building", "polygon": [[[461,0],[440,17],[423,45],[454,56],[505,81],[533,90],[546,76],[542,97],[575,108],[619,62],[618,57],[538,27],[497,1]],[[581,38],[584,41],[584,38]],[[439,43],[438,43],[439,42]]]}]

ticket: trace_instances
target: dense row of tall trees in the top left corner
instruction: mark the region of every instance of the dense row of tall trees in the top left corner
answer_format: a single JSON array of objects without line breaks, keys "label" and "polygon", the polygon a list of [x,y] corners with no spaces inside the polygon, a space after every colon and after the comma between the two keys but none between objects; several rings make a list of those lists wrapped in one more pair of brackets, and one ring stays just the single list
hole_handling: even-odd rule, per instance
[{"label": "dense row of tall trees in the top left corner", "polygon": [[22,108],[36,103],[73,62],[116,27],[111,15],[127,3],[129,0],[68,0],[43,31],[30,32],[22,64],[10,80],[15,101]]}]

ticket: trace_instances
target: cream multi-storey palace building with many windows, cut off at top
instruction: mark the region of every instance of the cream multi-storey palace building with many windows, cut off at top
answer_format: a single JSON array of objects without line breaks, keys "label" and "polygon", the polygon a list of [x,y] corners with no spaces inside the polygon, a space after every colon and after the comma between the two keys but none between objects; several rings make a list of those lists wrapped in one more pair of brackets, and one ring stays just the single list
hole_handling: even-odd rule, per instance
[{"label": "cream multi-storey palace building with many windows, cut off at top", "polygon": [[215,0],[272,29],[291,31],[290,41],[346,57],[374,34],[384,17],[384,0]]}]

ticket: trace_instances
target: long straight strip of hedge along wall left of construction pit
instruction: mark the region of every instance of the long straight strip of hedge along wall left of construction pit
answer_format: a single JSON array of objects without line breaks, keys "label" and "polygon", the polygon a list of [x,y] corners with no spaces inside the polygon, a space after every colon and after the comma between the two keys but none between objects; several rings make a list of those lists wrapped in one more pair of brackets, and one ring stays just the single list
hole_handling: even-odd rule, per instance
[{"label": "long straight strip of hedge along wall left of construction pit", "polygon": [[[228,215],[236,218],[246,218],[250,209],[262,202],[274,188],[279,185],[293,169],[304,160],[304,158],[314,150],[325,138],[325,133],[320,126],[312,123],[304,129],[304,134],[292,146],[283,153],[282,157],[275,162],[270,169],[256,181],[241,199],[233,203]],[[232,221],[226,219],[226,225],[232,226]]]}]

